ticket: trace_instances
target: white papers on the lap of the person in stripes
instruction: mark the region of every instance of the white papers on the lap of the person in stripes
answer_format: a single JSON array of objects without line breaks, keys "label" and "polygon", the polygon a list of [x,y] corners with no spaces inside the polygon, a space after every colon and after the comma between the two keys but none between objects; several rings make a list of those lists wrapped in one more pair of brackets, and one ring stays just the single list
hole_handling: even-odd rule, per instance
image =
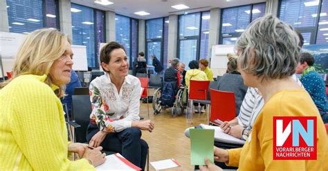
[{"label": "white papers on the lap of the person in stripes", "polygon": [[242,139],[237,139],[236,137],[231,136],[230,134],[226,134],[219,126],[211,126],[200,124],[201,128],[206,130],[215,130],[215,141],[222,143],[234,143],[234,144],[244,144],[245,141]]}]

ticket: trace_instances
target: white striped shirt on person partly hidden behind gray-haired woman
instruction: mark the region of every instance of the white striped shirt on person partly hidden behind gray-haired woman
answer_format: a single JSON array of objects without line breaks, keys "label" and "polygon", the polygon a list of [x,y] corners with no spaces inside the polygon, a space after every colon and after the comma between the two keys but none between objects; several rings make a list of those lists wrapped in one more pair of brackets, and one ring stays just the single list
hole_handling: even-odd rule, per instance
[{"label": "white striped shirt on person partly hidden behind gray-haired woman", "polygon": [[[302,86],[301,81],[293,74],[293,79]],[[303,86],[302,86],[303,87]],[[248,88],[237,121],[239,125],[251,130],[259,112],[264,105],[264,99],[257,88]]]}]

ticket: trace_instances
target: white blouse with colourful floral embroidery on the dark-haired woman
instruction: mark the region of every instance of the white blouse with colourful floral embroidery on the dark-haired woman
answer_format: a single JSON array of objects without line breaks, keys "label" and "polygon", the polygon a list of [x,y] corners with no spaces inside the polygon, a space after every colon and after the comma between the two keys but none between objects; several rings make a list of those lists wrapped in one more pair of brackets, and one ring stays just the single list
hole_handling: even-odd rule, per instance
[{"label": "white blouse with colourful floral embroidery on the dark-haired woman", "polygon": [[91,123],[105,132],[120,132],[139,121],[141,86],[138,78],[127,75],[120,92],[106,73],[91,81],[89,86],[92,112]]}]

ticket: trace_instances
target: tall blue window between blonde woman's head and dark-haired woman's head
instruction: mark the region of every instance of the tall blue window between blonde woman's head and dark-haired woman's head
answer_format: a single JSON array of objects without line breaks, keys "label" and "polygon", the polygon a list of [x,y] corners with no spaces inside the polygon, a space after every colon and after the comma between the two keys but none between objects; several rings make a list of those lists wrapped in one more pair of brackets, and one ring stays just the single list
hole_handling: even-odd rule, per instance
[{"label": "tall blue window between blonde woman's head and dark-haired woman's head", "polygon": [[104,12],[71,3],[73,45],[86,46],[88,66],[99,68],[99,43],[105,42]]}]

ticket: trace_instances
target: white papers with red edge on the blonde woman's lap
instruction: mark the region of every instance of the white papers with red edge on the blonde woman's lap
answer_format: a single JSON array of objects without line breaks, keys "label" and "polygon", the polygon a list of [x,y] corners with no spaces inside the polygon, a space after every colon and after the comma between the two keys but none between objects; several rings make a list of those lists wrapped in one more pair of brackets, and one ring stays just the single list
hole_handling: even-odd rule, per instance
[{"label": "white papers with red edge on the blonde woman's lap", "polygon": [[98,165],[96,170],[141,170],[136,165],[122,157],[121,154],[111,154],[106,157],[102,165]]}]

